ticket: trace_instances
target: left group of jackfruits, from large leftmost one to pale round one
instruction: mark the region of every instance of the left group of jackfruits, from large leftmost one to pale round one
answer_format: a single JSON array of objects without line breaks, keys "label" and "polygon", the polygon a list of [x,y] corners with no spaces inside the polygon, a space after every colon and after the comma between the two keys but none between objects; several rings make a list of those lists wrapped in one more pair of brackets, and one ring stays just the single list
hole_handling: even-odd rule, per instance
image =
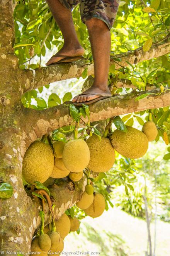
[{"label": "left group of jackfruits, from large leftmost one to pale round one", "polygon": [[50,145],[35,141],[26,150],[22,175],[27,183],[45,182],[49,177],[69,178],[77,182],[90,160],[90,150],[82,140],[70,140],[66,144],[57,141]]}]

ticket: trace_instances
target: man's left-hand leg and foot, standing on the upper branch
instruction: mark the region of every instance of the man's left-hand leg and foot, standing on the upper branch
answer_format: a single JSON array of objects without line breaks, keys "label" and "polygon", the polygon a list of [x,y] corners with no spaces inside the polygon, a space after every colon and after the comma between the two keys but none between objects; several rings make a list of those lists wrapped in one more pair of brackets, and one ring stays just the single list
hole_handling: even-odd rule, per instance
[{"label": "man's left-hand leg and foot, standing on the upper branch", "polygon": [[80,56],[84,54],[84,49],[78,42],[76,36],[76,31],[74,28],[74,23],[72,19],[71,10],[66,9],[59,0],[47,0],[49,8],[53,14],[53,17],[61,29],[61,33],[64,38],[64,45],[57,54],[55,54],[51,59],[46,63],[50,65],[54,62],[57,62],[62,57],[57,57],[58,54],[66,55],[70,57]]}]

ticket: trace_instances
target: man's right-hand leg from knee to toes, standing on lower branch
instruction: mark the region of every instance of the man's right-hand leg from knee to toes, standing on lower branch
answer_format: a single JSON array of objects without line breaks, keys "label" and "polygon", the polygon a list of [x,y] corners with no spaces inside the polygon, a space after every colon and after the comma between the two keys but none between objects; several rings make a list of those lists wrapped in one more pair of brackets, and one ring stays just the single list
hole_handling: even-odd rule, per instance
[{"label": "man's right-hand leg from knee to toes, standing on lower branch", "polygon": [[106,93],[111,96],[108,87],[111,36],[104,21],[97,18],[85,21],[87,25],[94,61],[94,83],[86,95],[76,96],[73,102],[85,102],[99,96],[90,93]]}]

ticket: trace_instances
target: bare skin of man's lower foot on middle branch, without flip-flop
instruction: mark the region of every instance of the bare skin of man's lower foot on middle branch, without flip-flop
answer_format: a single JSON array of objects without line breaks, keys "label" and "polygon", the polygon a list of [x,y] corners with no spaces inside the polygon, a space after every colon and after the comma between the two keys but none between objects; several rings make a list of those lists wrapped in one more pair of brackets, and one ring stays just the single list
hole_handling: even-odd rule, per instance
[{"label": "bare skin of man's lower foot on middle branch, without flip-flop", "polygon": [[[85,93],[85,94],[84,94]],[[85,102],[85,101],[89,101],[89,100],[94,100],[96,98],[99,98],[99,95],[95,95],[93,93],[102,95],[102,96],[112,96],[109,88],[107,89],[107,87],[104,86],[104,89],[101,90],[96,86],[92,86],[91,88],[89,88],[88,90],[86,90],[85,92],[83,92],[83,95],[77,95],[76,97],[74,97],[74,99],[72,100],[72,102]]]}]

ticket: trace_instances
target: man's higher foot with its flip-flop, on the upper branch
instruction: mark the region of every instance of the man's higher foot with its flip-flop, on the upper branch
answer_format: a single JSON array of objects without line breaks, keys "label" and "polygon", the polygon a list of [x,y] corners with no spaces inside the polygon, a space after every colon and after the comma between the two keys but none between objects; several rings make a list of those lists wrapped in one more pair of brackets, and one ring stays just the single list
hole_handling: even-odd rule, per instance
[{"label": "man's higher foot with its flip-flop, on the upper branch", "polygon": [[63,48],[61,48],[55,55],[51,57],[51,59],[49,59],[49,61],[46,63],[46,66],[55,64],[56,62],[62,62],[62,60],[63,62],[71,62],[74,60],[76,61],[78,59],[81,59],[83,54],[84,49],[81,45],[64,45]]}]

